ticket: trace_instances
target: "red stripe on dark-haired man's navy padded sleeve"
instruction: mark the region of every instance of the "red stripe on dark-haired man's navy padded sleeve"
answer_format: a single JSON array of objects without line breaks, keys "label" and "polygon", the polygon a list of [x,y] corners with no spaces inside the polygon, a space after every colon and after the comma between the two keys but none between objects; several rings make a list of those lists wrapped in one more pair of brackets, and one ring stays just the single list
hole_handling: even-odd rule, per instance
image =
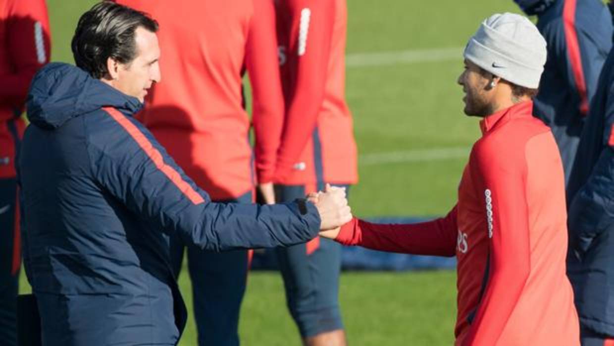
[{"label": "red stripe on dark-haired man's navy padded sleeve", "polygon": [[145,154],[149,156],[155,167],[162,171],[168,179],[170,179],[175,186],[181,191],[188,199],[194,204],[200,204],[204,202],[203,197],[196,192],[190,184],[188,184],[181,175],[171,166],[167,165],[162,158],[162,154],[153,147],[151,142],[147,140],[147,137],[128,120],[121,112],[115,108],[104,107],[103,111],[109,113],[109,115],[115,119],[122,127],[128,132],[128,134],[136,141],[137,144],[143,149]]}]

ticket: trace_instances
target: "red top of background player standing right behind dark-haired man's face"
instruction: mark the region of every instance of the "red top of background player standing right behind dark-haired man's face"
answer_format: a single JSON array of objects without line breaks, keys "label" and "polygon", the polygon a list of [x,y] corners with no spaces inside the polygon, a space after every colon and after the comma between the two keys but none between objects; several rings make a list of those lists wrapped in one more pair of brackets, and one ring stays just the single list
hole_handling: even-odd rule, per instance
[{"label": "red top of background player standing right behind dark-haired man's face", "polygon": [[[241,88],[247,68],[257,179],[269,183],[283,121],[273,3],[117,2],[147,12],[160,23],[162,80],[147,95],[139,119],[213,200],[244,195],[254,186],[250,122]],[[215,15],[203,20],[203,13]],[[186,27],[192,34],[184,34]]]}]

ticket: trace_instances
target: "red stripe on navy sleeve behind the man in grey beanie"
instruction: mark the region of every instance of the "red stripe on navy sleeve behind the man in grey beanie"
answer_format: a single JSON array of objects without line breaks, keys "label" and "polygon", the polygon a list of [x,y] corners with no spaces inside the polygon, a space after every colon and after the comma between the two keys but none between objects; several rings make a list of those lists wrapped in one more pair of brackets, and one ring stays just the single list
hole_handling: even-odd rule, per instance
[{"label": "red stripe on navy sleeve behind the man in grey beanie", "polygon": [[567,54],[572,68],[573,79],[580,94],[580,112],[583,116],[588,114],[588,96],[586,95],[586,80],[582,69],[582,59],[580,55],[580,43],[575,25],[575,11],[577,0],[565,0],[563,7],[563,29],[565,32],[565,42],[567,43]]}]

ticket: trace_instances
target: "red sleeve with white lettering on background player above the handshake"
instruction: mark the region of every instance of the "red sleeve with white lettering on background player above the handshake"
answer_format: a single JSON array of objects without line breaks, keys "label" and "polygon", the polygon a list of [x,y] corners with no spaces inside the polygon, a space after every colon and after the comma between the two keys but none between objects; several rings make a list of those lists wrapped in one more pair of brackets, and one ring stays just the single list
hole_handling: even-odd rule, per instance
[{"label": "red sleeve with white lettering on background player above the handshake", "polygon": [[276,179],[292,171],[316,127],[324,100],[330,44],[335,21],[335,4],[330,0],[289,0],[292,17],[290,37],[297,41],[289,54],[297,54],[295,83],[286,105],[284,132],[278,151]]}]

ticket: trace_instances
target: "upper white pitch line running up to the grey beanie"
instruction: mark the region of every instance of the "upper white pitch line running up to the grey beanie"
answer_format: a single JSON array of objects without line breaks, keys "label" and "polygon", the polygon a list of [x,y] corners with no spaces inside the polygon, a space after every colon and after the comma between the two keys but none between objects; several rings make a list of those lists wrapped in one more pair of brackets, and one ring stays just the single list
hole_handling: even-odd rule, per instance
[{"label": "upper white pitch line running up to the grey beanie", "polygon": [[350,53],[346,55],[346,66],[381,66],[398,63],[424,63],[430,61],[456,60],[461,63],[464,48],[413,49],[397,52]]}]

